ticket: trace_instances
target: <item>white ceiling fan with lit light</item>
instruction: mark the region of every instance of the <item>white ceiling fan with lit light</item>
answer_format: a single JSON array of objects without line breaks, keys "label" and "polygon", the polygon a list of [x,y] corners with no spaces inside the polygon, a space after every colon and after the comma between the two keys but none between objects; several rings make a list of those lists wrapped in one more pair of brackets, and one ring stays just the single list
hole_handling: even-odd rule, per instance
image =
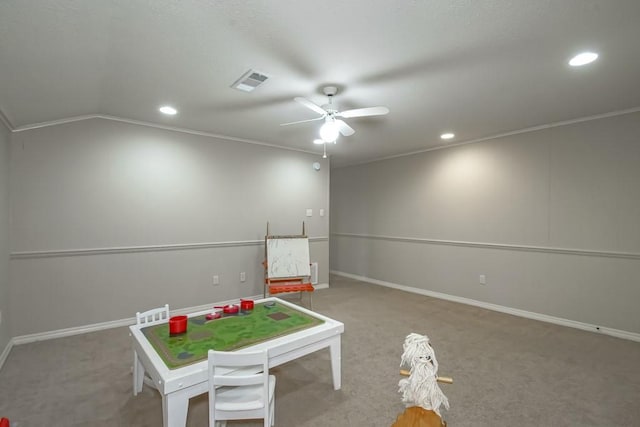
[{"label": "white ceiling fan with lit light", "polygon": [[294,101],[320,114],[320,117],[316,117],[315,119],[299,120],[297,122],[282,123],[280,126],[289,126],[298,123],[324,120],[324,124],[320,128],[320,138],[322,139],[315,140],[314,142],[317,142],[319,144],[327,142],[335,143],[336,139],[338,139],[338,134],[349,136],[353,135],[356,132],[351,126],[349,126],[343,120],[340,120],[340,117],[350,119],[354,117],[382,116],[389,113],[389,109],[387,107],[367,107],[356,108],[354,110],[338,111],[333,105],[333,97],[338,92],[338,88],[336,88],[335,86],[327,86],[323,88],[322,91],[329,98],[329,103],[323,106],[319,106],[300,96],[294,98]]}]

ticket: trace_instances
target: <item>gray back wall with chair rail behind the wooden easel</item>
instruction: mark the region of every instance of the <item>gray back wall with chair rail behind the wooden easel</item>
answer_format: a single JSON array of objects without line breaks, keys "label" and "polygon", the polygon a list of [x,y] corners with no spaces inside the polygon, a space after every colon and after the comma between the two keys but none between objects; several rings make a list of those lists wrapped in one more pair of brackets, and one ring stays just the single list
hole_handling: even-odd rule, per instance
[{"label": "gray back wall with chair rail behind the wooden easel", "polygon": [[328,282],[317,155],[91,119],[14,133],[11,161],[14,336],[261,294],[267,221],[305,221]]}]

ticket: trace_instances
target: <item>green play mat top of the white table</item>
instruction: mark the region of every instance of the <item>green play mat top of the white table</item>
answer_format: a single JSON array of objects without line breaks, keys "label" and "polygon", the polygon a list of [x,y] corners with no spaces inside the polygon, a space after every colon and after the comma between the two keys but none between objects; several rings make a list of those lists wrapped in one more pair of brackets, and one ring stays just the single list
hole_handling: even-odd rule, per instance
[{"label": "green play mat top of the white table", "polygon": [[142,328],[169,369],[181,368],[207,358],[209,349],[233,351],[324,323],[289,306],[256,304],[246,314],[207,320],[206,315],[190,317],[187,332],[171,336],[169,324]]}]

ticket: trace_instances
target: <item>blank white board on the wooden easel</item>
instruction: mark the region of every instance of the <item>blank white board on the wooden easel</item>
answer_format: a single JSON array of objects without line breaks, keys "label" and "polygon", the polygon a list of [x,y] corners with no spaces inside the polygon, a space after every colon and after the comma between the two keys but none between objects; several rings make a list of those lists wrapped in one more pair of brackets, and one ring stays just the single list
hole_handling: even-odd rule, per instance
[{"label": "blank white board on the wooden easel", "polygon": [[311,276],[308,237],[267,238],[267,278]]}]

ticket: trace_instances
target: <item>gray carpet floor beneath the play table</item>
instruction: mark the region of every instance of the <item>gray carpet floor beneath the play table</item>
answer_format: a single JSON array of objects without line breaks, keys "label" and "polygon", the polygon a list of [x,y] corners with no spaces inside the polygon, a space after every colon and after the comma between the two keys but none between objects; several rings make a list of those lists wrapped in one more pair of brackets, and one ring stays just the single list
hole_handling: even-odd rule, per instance
[{"label": "gray carpet floor beneath the play table", "polygon": [[[404,337],[436,350],[449,426],[640,426],[640,343],[332,277],[314,309],[345,324],[342,390],[323,350],[272,372],[280,427],[390,426]],[[12,427],[160,426],[157,391],[131,392],[127,328],[15,346],[0,370]],[[188,426],[207,426],[207,396]],[[256,422],[230,425],[259,426]]]}]

